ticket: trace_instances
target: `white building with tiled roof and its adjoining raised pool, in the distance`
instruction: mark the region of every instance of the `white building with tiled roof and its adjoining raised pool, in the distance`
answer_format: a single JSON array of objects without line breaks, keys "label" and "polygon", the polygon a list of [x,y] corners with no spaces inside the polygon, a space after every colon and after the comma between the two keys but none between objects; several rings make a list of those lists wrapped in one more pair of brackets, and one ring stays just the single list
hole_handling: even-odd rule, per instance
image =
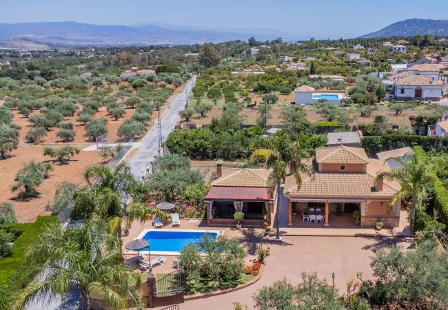
[{"label": "white building with tiled roof and its adjoining raised pool, in the distance", "polygon": [[296,105],[317,104],[319,100],[325,99],[334,105],[340,104],[340,101],[347,99],[347,92],[340,90],[316,91],[308,85],[301,85],[294,90],[296,96]]}]

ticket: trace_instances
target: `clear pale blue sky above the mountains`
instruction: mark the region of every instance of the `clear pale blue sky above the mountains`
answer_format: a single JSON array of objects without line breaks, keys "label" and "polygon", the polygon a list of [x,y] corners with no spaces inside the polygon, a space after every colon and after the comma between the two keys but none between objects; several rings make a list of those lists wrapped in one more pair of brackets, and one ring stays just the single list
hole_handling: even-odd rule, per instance
[{"label": "clear pale blue sky above the mountains", "polygon": [[[349,38],[409,18],[447,19],[446,0],[2,0],[1,23],[79,21],[262,28],[308,39]],[[425,8],[418,10],[416,8]],[[429,10],[431,8],[431,10]],[[440,9],[437,9],[440,8]]]}]

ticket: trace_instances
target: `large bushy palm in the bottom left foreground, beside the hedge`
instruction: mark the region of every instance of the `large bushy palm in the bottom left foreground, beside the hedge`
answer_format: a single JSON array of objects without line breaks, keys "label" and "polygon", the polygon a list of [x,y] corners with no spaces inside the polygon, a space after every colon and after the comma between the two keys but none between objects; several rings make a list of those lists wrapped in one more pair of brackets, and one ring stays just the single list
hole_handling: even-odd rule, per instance
[{"label": "large bushy palm in the bottom left foreground, beside the hedge", "polygon": [[141,274],[124,263],[121,242],[106,226],[99,216],[92,216],[74,229],[46,227],[24,256],[39,276],[15,294],[14,309],[25,309],[48,293],[61,296],[63,302],[72,285],[79,289],[83,309],[90,309],[91,298],[114,309],[143,308],[136,290]]}]

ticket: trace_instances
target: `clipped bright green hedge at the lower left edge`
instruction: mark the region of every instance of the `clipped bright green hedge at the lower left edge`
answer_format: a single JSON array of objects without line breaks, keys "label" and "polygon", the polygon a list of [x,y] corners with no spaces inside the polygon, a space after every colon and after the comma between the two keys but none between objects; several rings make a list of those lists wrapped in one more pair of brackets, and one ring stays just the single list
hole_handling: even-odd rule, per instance
[{"label": "clipped bright green hedge at the lower left edge", "polygon": [[50,223],[59,223],[56,216],[39,216],[34,223],[16,223],[9,227],[14,234],[22,234],[12,246],[12,254],[0,259],[0,309],[10,309],[9,302],[12,295],[28,284],[32,278],[25,279],[23,273],[23,254],[32,242]]}]

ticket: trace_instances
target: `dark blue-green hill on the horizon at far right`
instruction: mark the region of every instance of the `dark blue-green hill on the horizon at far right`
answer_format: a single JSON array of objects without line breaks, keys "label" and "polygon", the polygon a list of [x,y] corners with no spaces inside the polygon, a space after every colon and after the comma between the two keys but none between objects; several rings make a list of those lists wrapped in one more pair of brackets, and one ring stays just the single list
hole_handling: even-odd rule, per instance
[{"label": "dark blue-green hill on the horizon at far right", "polygon": [[406,19],[392,23],[376,32],[365,34],[360,38],[411,37],[419,34],[448,36],[448,20]]}]

